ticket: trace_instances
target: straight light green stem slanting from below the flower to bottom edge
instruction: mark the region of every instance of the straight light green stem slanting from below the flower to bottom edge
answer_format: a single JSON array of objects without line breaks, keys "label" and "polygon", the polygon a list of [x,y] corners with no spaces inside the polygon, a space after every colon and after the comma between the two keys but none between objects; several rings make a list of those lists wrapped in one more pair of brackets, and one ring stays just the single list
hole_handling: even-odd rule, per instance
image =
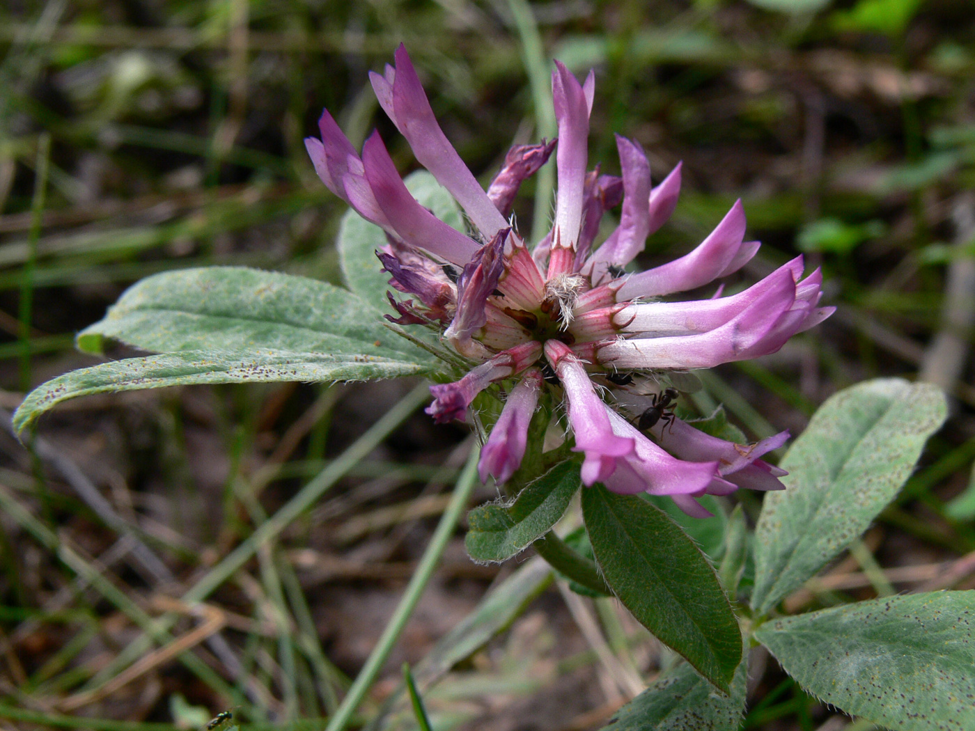
[{"label": "straight light green stem slanting from below the flower to bottom edge", "polygon": [[464,466],[463,472],[460,473],[460,479],[453,488],[453,495],[450,497],[447,511],[445,511],[444,516],[440,519],[440,524],[437,525],[437,530],[434,532],[433,538],[430,539],[430,545],[427,546],[426,551],[423,553],[423,558],[420,558],[419,565],[416,567],[416,573],[409,580],[407,591],[404,593],[403,598],[400,599],[400,603],[390,618],[389,624],[386,625],[382,636],[379,637],[379,641],[376,642],[369,659],[366,661],[366,665],[363,666],[355,682],[352,683],[352,687],[349,688],[349,692],[342,700],[342,705],[338,707],[338,711],[331,717],[325,731],[343,731],[349,719],[352,717],[352,713],[359,708],[359,704],[366,697],[372,681],[379,674],[383,664],[389,657],[390,651],[393,649],[393,645],[396,644],[396,640],[399,639],[403,628],[406,627],[409,615],[412,614],[416,602],[419,601],[423,590],[426,589],[426,585],[430,581],[430,577],[433,576],[433,571],[437,567],[441,556],[443,556],[444,550],[447,548],[447,542],[453,534],[453,529],[456,527],[461,513],[467,506],[467,501],[471,496],[471,492],[474,490],[474,485],[478,483],[477,466],[480,451],[478,447],[474,447],[471,450],[471,455],[467,458],[467,464]]}]

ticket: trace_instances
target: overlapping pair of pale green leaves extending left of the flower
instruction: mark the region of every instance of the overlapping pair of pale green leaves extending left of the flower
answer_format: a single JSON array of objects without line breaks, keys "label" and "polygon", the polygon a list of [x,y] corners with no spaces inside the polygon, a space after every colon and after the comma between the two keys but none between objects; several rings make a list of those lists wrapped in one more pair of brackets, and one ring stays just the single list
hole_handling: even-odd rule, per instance
[{"label": "overlapping pair of pale green leaves extending left of the flower", "polygon": [[164,355],[66,373],[28,394],[22,430],[78,396],[193,383],[335,381],[435,370],[430,356],[381,325],[355,294],[324,282],[244,267],[167,272],[128,289],[78,335],[100,353],[118,341]]}]

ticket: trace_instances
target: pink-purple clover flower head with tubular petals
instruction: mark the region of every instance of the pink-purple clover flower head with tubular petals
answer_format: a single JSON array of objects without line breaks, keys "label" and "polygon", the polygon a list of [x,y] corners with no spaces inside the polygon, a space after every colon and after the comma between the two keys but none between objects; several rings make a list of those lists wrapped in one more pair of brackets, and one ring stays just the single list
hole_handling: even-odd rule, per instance
[{"label": "pink-purple clover flower head with tubular petals", "polygon": [[[485,191],[437,123],[403,46],[395,59],[395,67],[370,75],[372,88],[419,163],[463,209],[469,232],[413,199],[377,133],[359,155],[326,111],[322,139],[309,137],[306,146],[331,191],[387,234],[379,260],[391,286],[415,297],[390,293],[399,317],[387,318],[443,328],[443,339],[472,364],[459,380],[431,387],[434,403],[427,412],[438,422],[462,419],[488,386],[516,379],[484,445],[482,479],[503,482],[518,469],[528,423],[549,389],[565,404],[586,485],[600,481],[616,492],[670,495],[691,515],[708,515],[694,499],[706,493],[781,488],[778,478],[785,473],[761,455],[785,442],[787,432],[735,444],[668,412],[650,429],[650,439],[631,419],[660,404],[656,384],[666,382],[669,371],[773,353],[829,317],[834,308],[817,306],[819,270],[802,278],[798,257],[731,296],[660,301],[731,274],[755,255],[759,243],[744,239],[740,201],[690,253],[626,273],[646,237],[674,211],[681,166],[652,186],[641,146],[617,135],[622,175],[587,171],[592,71],[580,84],[556,61],[558,139],[512,148]],[[554,222],[529,249],[510,219],[511,206],[521,183],[553,152]],[[620,205],[619,225],[597,246],[604,212]]]}]

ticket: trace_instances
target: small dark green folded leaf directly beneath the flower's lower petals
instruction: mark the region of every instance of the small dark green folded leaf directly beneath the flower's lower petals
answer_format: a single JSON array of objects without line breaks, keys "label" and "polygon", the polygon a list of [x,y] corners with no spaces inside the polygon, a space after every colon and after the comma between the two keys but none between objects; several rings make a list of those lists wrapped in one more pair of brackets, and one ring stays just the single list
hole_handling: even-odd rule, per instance
[{"label": "small dark green folded leaf directly beneath the flower's lower petals", "polygon": [[563,462],[529,483],[510,506],[475,508],[467,517],[467,553],[484,562],[520,554],[562,518],[579,484],[578,463]]}]

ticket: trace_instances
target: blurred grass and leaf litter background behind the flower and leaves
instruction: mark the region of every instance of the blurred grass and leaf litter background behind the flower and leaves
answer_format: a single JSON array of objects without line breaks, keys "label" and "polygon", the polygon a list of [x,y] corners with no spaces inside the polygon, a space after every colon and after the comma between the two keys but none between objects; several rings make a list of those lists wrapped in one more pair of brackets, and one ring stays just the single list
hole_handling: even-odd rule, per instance
[{"label": "blurred grass and leaf litter background behind the flower and leaves", "polygon": [[[779,354],[708,374],[702,409],[724,403],[759,438],[800,432],[831,393],[877,375],[953,396],[898,502],[793,608],[975,587],[967,0],[10,0],[0,406],[95,363],[73,333],[153,272],[239,264],[338,283],[344,207],[302,139],[328,107],[355,144],[378,127],[401,172],[414,167],[368,85],[400,42],[482,180],[537,136],[526,58],[540,43],[597,71],[590,159],[604,172],[618,173],[614,133],[643,144],[654,181],[683,160],[681,203],[644,264],[689,250],[740,197],[764,246],[732,287],[798,251],[823,267],[837,314]],[[530,195],[520,206],[527,230]],[[469,448],[462,427],[422,413],[367,432],[398,400],[415,405],[414,385],[97,397],[45,417],[31,450],[0,435],[0,726],[197,728],[233,706],[320,728],[296,721],[333,711],[362,666]],[[368,457],[347,458],[350,445]],[[215,578],[329,469],[325,499]],[[516,568],[471,564],[458,534],[362,717],[400,663],[427,656]],[[206,602],[178,598],[201,582]],[[612,602],[549,589],[427,700],[443,727],[599,728],[667,662]],[[746,728],[871,728],[774,668],[751,699]]]}]

